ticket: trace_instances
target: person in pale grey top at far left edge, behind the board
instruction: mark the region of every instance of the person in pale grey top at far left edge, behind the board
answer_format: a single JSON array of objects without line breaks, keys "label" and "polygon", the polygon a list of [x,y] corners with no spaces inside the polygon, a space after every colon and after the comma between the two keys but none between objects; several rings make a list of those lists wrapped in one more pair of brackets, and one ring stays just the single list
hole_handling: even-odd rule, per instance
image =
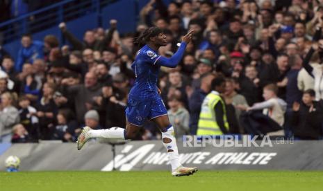
[{"label": "person in pale grey top at far left edge, behind the board", "polygon": [[3,143],[10,143],[13,126],[19,122],[19,112],[15,104],[15,96],[5,92],[1,94],[0,104],[0,139]]}]

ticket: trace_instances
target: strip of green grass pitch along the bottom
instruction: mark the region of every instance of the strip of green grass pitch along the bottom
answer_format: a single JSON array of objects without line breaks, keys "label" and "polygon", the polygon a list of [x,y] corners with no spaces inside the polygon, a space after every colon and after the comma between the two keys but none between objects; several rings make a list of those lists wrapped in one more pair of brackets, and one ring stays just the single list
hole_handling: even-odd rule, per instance
[{"label": "strip of green grass pitch along the bottom", "polygon": [[323,172],[199,171],[169,172],[0,172],[0,190],[323,190]]}]

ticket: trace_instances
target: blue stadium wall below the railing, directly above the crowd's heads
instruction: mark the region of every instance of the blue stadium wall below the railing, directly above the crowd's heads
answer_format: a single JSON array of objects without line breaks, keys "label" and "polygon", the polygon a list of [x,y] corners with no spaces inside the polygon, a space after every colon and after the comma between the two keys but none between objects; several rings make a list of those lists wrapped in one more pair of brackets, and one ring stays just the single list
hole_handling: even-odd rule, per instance
[{"label": "blue stadium wall below the railing, directly above the crowd's heads", "polygon": [[[169,1],[170,0],[164,0],[166,4],[169,3]],[[102,7],[101,24],[103,28],[110,27],[110,19],[117,19],[119,33],[133,32],[138,22],[140,9],[148,2],[149,0],[120,0]],[[78,39],[83,39],[83,34],[86,30],[97,28],[98,26],[99,21],[97,20],[96,12],[67,22],[68,30],[76,35]],[[48,28],[47,30],[42,30],[39,33],[33,33],[33,39],[42,41],[46,35],[56,35],[61,38],[58,25]],[[19,46],[20,39],[3,45],[5,50],[14,58],[17,57]]]}]

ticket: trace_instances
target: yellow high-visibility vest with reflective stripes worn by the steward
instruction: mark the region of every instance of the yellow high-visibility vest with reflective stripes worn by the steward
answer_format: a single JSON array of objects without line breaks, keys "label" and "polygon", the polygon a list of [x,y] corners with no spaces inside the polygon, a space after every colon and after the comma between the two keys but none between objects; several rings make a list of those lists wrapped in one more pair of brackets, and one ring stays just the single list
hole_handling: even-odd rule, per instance
[{"label": "yellow high-visibility vest with reflective stripes worn by the steward", "polygon": [[224,101],[219,96],[217,91],[212,91],[208,93],[208,96],[203,101],[201,106],[201,113],[199,113],[199,123],[197,128],[197,135],[222,135],[222,131],[217,125],[217,120],[215,118],[214,107],[217,102],[221,102],[223,106],[224,116],[224,127],[229,131],[229,123],[226,120],[226,108]]}]

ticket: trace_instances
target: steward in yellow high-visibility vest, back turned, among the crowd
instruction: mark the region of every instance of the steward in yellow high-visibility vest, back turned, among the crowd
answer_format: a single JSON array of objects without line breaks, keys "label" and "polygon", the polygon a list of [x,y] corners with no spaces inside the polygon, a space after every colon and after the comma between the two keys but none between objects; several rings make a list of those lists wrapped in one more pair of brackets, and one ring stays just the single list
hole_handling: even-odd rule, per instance
[{"label": "steward in yellow high-visibility vest, back turned, among the crowd", "polygon": [[229,123],[226,120],[226,107],[220,93],[225,91],[224,78],[215,78],[212,89],[201,105],[197,135],[222,135],[229,133]]}]

